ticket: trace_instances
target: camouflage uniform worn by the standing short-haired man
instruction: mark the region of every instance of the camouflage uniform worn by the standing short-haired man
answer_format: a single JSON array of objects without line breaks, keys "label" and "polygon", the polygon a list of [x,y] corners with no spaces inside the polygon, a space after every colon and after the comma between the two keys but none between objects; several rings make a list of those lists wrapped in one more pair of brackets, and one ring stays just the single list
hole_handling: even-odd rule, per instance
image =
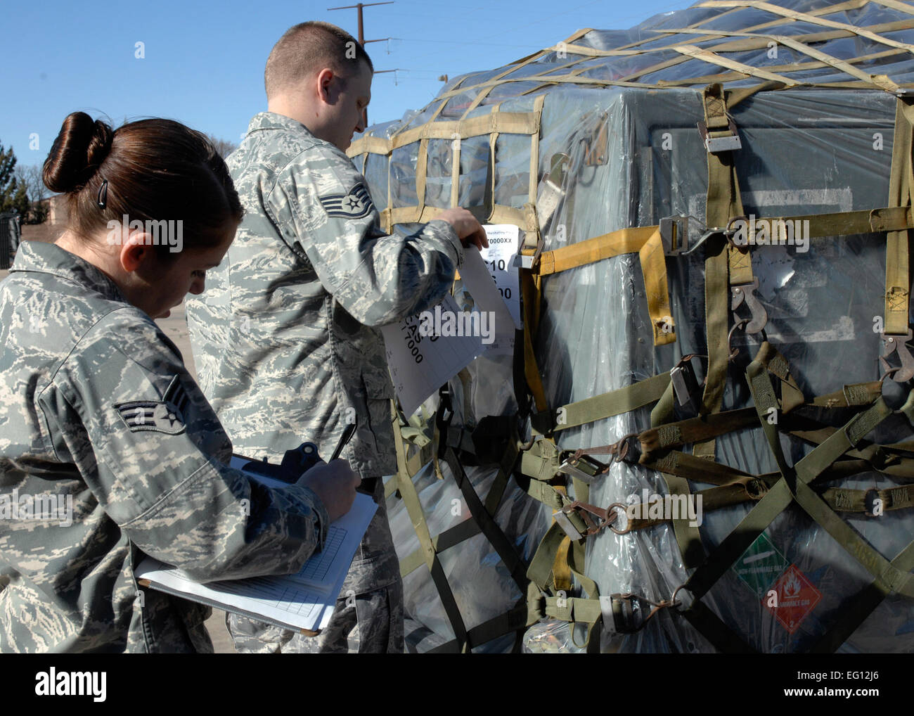
[{"label": "camouflage uniform worn by the standing short-haired man", "polygon": [[[363,478],[395,473],[394,391],[378,326],[441,301],[463,258],[457,234],[434,220],[409,236],[385,235],[352,161],[281,114],[257,114],[227,164],[245,217],[225,260],[207,272],[207,290],[187,300],[203,391],[240,453],[278,461],[310,441],[328,457],[355,420],[342,456]],[[382,504],[340,594],[364,605],[361,634],[384,632],[372,622],[388,617],[370,604],[387,597],[368,595],[395,584],[399,564]],[[401,586],[398,593],[388,611],[399,614],[389,628],[401,651]],[[337,610],[312,639],[242,628],[242,617],[230,617],[229,628],[240,650],[339,650],[347,618]],[[382,643],[378,636],[375,646]]]}]

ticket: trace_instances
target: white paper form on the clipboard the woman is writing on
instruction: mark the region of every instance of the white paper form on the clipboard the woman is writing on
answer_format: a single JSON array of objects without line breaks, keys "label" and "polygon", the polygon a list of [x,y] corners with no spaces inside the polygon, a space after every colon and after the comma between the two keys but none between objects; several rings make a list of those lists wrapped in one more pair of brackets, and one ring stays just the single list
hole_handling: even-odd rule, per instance
[{"label": "white paper form on the clipboard the woman is writing on", "polygon": [[[233,455],[230,465],[241,469],[248,462],[248,458]],[[268,476],[245,474],[266,486],[289,486]],[[330,621],[349,565],[376,511],[377,505],[371,497],[356,494],[353,507],[327,529],[324,550],[314,553],[295,574],[200,584],[188,579],[184,572],[146,557],[136,570],[136,578],[149,580],[154,589],[228,612],[316,631]]]}]

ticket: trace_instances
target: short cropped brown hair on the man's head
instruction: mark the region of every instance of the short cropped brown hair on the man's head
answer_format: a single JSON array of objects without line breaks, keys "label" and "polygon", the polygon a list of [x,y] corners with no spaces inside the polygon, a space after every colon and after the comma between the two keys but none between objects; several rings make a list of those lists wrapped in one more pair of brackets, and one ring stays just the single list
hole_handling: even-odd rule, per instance
[{"label": "short cropped brown hair on the man's head", "polygon": [[267,99],[324,68],[332,69],[344,79],[353,77],[359,60],[375,71],[365,48],[335,25],[314,20],[290,27],[267,58],[267,69],[263,72]]}]

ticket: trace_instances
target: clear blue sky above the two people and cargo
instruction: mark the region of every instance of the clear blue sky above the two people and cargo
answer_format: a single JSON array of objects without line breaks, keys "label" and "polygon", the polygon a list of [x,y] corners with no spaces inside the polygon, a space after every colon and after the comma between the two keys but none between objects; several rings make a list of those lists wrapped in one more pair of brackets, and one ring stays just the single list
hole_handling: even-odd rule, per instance
[{"label": "clear blue sky above the two people and cargo", "polygon": [[[493,69],[568,37],[580,27],[625,28],[692,0],[397,0],[367,7],[366,39],[377,74],[370,123],[419,109],[438,77]],[[115,126],[168,117],[237,143],[266,109],[263,65],[282,33],[325,20],[356,35],[343,0],[0,0],[0,143],[19,164],[40,164],[63,118],[76,110]],[[143,43],[142,59],[136,43]],[[30,140],[37,134],[37,149]]]}]

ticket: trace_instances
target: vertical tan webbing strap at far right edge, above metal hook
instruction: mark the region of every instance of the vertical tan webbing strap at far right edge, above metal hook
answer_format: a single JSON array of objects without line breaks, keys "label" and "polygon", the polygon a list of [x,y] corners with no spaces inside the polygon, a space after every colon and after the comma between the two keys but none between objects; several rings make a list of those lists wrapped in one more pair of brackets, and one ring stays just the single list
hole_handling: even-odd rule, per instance
[{"label": "vertical tan webbing strap at far right edge, above metal hook", "polygon": [[[892,143],[892,170],[888,183],[888,203],[909,207],[914,191],[911,167],[914,106],[910,98],[898,98],[895,112],[895,139]],[[906,336],[909,327],[910,276],[908,266],[909,231],[889,231],[886,238],[886,322],[887,335]]]}]

